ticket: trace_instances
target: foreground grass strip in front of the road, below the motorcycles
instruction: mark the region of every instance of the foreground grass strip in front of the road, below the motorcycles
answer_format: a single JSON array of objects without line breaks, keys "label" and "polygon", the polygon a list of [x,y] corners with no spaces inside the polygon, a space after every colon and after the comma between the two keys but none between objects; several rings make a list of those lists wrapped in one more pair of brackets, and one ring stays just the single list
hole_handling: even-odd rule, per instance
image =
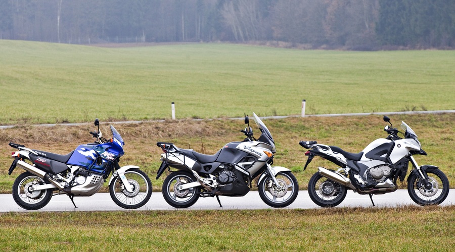
[{"label": "foreground grass strip in front of the road, below the motorcycles", "polygon": [[[378,218],[379,217],[379,218]],[[455,206],[0,214],[3,250],[450,251]]]}]

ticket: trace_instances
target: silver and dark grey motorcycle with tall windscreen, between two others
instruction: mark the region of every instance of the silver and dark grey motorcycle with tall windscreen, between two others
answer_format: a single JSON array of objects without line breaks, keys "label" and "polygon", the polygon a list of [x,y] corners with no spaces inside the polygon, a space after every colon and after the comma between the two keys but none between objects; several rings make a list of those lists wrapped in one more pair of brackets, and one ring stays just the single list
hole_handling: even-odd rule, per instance
[{"label": "silver and dark grey motorcycle with tall windscreen, between two others", "polygon": [[218,196],[241,197],[257,181],[259,196],[271,207],[286,207],[297,197],[299,185],[291,170],[271,166],[274,162],[275,142],[265,124],[254,114],[254,120],[261,131],[258,139],[253,137],[248,116],[248,127],[241,131],[246,138],[243,142],[224,145],[214,155],[204,155],[194,150],[180,149],[172,143],[158,142],[163,150],[161,166],[156,179],[170,168],[171,172],[163,183],[163,196],[175,208],[188,208],[199,197]]}]

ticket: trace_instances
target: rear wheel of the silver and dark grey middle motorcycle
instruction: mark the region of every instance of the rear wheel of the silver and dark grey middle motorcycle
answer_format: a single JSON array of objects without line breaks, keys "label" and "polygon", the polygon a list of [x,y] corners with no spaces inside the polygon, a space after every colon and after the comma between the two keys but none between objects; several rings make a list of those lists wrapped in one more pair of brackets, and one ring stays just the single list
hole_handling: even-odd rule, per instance
[{"label": "rear wheel of the silver and dark grey middle motorcycle", "polygon": [[179,190],[179,186],[195,182],[193,174],[187,171],[174,171],[163,182],[163,196],[166,202],[175,208],[193,206],[199,199],[200,186]]}]

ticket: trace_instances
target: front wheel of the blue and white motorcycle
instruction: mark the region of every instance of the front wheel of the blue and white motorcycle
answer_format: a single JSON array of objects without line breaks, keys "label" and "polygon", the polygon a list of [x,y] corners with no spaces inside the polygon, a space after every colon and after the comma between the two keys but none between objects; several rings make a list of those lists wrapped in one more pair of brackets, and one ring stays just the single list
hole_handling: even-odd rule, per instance
[{"label": "front wheel of the blue and white motorcycle", "polygon": [[109,194],[118,206],[125,209],[136,209],[144,206],[152,196],[152,182],[149,176],[140,169],[130,169],[125,172],[132,192],[128,192],[119,177],[115,177],[109,185]]}]

